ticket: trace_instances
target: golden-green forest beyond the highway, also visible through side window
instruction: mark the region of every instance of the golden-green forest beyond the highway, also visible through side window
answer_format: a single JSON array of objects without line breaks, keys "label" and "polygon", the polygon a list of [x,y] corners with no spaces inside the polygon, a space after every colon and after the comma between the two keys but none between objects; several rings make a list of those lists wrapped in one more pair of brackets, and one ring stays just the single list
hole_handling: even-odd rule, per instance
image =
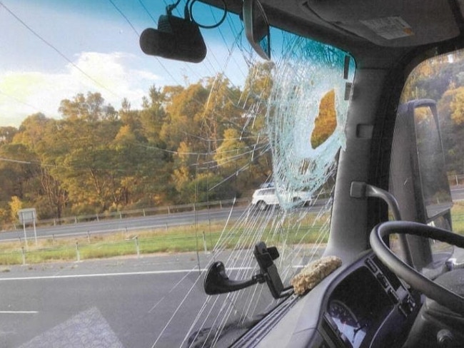
[{"label": "golden-green forest beyond the highway, also visible through side window", "polygon": [[[447,170],[461,174],[464,60],[449,59],[418,66],[403,101],[438,102]],[[59,219],[251,196],[272,175],[265,118],[272,69],[251,66],[243,88],[221,74],[152,86],[137,110],[126,99],[116,109],[98,92],[77,93],[57,106],[59,119],[34,113],[19,128],[0,127],[0,226],[17,222],[21,208]],[[335,128],[333,98],[331,91],[321,100],[313,148]]]}]

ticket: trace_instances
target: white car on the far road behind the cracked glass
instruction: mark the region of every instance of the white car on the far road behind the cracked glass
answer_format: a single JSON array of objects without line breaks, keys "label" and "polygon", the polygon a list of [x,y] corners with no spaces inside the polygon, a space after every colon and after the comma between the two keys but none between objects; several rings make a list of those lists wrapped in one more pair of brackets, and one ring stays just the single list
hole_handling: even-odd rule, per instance
[{"label": "white car on the far road behind the cracked glass", "polygon": [[259,210],[265,210],[270,205],[291,204],[305,205],[311,200],[311,193],[306,191],[288,192],[279,195],[276,188],[259,188],[253,193],[251,203]]}]

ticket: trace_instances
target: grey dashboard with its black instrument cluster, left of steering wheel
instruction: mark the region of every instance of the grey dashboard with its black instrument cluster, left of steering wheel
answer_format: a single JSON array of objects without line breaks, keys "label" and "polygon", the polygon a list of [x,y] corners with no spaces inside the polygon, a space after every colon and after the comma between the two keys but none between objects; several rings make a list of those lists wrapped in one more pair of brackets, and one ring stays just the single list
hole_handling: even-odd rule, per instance
[{"label": "grey dashboard with its black instrument cluster, left of steering wheel", "polygon": [[420,305],[417,292],[365,252],[283,301],[233,347],[402,347]]}]

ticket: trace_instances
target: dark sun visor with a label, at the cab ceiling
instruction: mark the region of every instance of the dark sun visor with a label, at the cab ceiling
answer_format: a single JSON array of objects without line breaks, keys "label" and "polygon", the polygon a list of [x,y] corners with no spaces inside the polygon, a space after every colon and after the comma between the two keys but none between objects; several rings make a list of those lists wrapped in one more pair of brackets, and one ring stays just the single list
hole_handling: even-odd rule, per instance
[{"label": "dark sun visor with a label, at the cab ceiling", "polygon": [[443,0],[304,0],[301,7],[380,46],[419,46],[459,34],[448,1]]}]

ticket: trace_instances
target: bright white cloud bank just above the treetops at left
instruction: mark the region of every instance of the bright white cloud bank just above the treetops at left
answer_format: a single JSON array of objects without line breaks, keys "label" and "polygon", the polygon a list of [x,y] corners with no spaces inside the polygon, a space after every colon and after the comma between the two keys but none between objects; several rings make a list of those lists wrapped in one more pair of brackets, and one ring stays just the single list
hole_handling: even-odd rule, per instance
[{"label": "bright white cloud bank just above the treetops at left", "polygon": [[123,98],[138,108],[148,88],[161,80],[141,63],[129,53],[82,52],[62,72],[0,71],[0,126],[18,127],[37,112],[59,118],[63,99],[88,91],[101,93],[116,109]]}]

